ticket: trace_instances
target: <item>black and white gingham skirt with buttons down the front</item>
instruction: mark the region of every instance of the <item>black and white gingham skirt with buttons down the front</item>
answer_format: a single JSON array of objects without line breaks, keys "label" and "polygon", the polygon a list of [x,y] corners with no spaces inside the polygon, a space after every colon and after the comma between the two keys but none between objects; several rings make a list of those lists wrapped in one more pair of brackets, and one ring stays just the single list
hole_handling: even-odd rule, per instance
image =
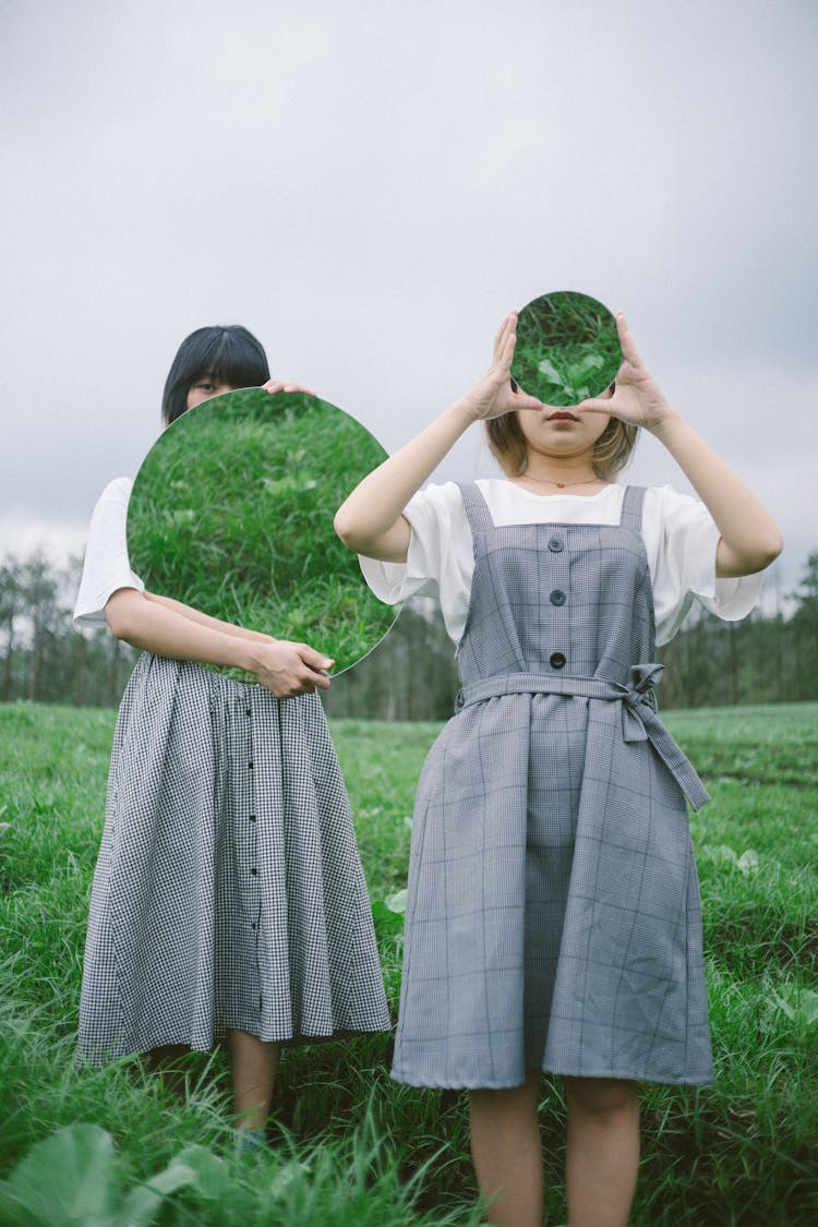
[{"label": "black and white gingham skirt with buttons down the front", "polygon": [[143,654],[117,721],[78,1059],[390,1026],[318,694]]}]

